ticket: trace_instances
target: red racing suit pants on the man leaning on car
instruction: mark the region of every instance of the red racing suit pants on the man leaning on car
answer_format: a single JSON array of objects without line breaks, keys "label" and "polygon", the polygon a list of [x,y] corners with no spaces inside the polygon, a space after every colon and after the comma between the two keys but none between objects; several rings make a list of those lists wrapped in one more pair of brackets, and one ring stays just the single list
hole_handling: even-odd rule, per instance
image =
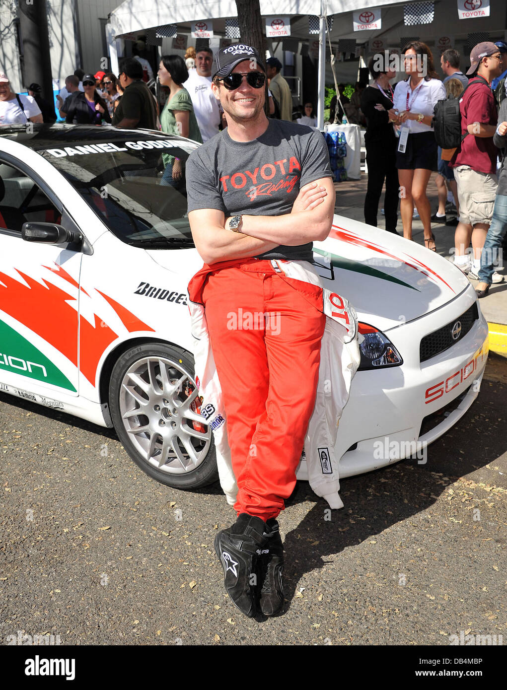
[{"label": "red racing suit pants on the man leaning on car", "polygon": [[234,507],[268,520],[295,488],[315,406],[321,290],[282,279],[268,260],[238,259],[208,266],[201,302],[238,485]]}]

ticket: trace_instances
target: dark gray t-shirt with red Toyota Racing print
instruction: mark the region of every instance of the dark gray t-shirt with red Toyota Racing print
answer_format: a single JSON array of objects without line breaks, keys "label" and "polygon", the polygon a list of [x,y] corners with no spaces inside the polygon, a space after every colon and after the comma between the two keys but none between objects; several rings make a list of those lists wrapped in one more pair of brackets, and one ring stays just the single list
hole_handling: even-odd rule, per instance
[{"label": "dark gray t-shirt with red Toyota Racing print", "polygon": [[[186,165],[188,210],[216,208],[228,216],[290,213],[299,188],[332,177],[328,146],[310,127],[270,119],[253,141],[219,132],[192,152]],[[312,242],[279,245],[262,259],[312,261]]]}]

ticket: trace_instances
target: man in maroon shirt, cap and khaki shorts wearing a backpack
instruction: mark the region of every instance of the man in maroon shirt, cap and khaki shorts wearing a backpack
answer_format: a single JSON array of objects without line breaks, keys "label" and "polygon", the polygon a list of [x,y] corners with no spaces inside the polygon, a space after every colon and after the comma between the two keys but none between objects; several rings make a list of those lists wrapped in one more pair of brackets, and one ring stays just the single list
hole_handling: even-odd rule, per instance
[{"label": "man in maroon shirt, cap and khaki shorts wearing a backpack", "polygon": [[[450,161],[459,199],[459,224],[455,233],[455,265],[477,280],[481,250],[493,215],[497,193],[497,148],[493,135],[497,109],[490,83],[501,73],[501,55],[495,43],[478,43],[470,53],[469,86],[459,101],[461,148]],[[473,262],[466,250],[472,239]]]}]

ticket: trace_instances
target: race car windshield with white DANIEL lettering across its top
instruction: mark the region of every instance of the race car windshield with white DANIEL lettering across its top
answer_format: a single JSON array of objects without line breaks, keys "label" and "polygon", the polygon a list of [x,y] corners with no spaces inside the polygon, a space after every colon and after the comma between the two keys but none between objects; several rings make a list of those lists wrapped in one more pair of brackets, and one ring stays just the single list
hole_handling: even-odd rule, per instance
[{"label": "race car windshield with white DANIEL lettering across its top", "polygon": [[130,134],[128,140],[112,137],[100,144],[90,139],[69,146],[66,141],[61,148],[39,153],[58,168],[122,242],[144,248],[177,248],[193,246],[185,168],[195,148],[190,142],[139,132]]}]

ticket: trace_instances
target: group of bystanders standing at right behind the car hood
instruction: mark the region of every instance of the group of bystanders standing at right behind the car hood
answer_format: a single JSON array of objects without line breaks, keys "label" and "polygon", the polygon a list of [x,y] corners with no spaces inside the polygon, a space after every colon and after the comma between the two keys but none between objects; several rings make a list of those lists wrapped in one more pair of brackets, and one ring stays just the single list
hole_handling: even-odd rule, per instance
[{"label": "group of bystanders standing at right behind the car hood", "polygon": [[[501,104],[506,101],[507,44],[486,41],[475,46],[466,75],[459,69],[459,52],[453,48],[444,51],[440,61],[443,81],[425,43],[411,41],[403,52],[406,77],[394,90],[390,86],[396,77],[394,61],[386,55],[384,61],[370,59],[372,84],[361,93],[368,166],[365,221],[377,226],[385,181],[386,230],[397,232],[398,199],[404,237],[412,239],[415,207],[424,228],[424,244],[430,250],[437,250],[432,223],[456,226],[455,265],[469,277],[480,279],[477,294],[483,297],[492,282],[503,279],[493,270],[493,257],[507,228],[501,199],[506,191],[503,165],[497,177],[499,150],[505,147],[507,112]],[[461,115],[461,145],[453,149],[437,146],[433,128],[435,105],[448,97],[459,99]],[[433,215],[426,193],[432,172],[438,172],[439,200]],[[457,212],[453,219],[446,217],[449,193]]]}]

